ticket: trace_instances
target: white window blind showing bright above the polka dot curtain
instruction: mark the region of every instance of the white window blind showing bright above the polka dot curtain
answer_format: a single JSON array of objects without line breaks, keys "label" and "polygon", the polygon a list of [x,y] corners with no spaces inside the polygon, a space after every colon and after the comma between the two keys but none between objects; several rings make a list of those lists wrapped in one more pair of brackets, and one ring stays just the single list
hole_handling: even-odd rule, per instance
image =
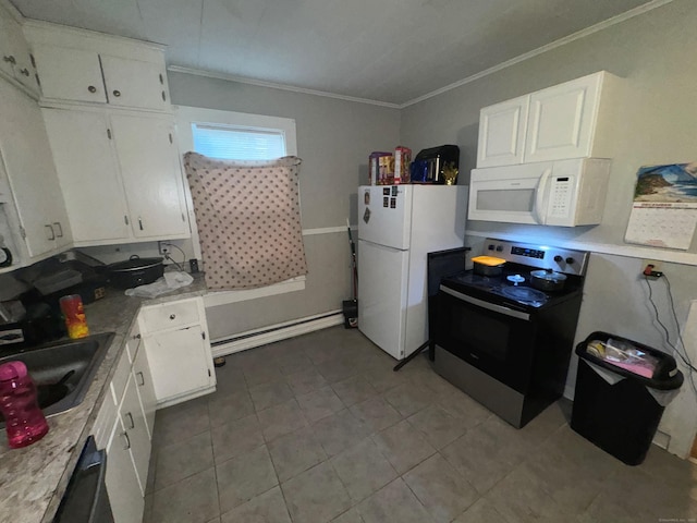
[{"label": "white window blind showing bright above the polka dot curtain", "polygon": [[270,160],[286,155],[285,133],[278,129],[193,123],[194,150],[223,160]]}]

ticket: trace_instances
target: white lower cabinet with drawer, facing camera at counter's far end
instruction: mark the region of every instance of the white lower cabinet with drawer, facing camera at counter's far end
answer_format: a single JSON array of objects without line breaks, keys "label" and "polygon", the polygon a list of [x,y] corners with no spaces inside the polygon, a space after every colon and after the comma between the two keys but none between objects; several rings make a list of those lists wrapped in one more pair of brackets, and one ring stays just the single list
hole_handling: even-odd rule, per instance
[{"label": "white lower cabinet with drawer, facing camera at counter's far end", "polygon": [[158,406],[216,390],[203,299],[143,307],[139,326]]}]

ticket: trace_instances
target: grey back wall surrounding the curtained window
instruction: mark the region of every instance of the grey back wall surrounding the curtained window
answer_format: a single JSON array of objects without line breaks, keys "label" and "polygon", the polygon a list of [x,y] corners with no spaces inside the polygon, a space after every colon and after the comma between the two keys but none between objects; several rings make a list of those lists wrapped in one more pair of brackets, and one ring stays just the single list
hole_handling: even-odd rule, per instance
[{"label": "grey back wall surrounding the curtained window", "polygon": [[304,291],[208,308],[211,338],[341,309],[352,293],[346,218],[357,222],[355,198],[367,182],[368,155],[399,143],[399,110],[176,72],[169,84],[175,105],[294,119],[303,230],[341,228],[303,236]]}]

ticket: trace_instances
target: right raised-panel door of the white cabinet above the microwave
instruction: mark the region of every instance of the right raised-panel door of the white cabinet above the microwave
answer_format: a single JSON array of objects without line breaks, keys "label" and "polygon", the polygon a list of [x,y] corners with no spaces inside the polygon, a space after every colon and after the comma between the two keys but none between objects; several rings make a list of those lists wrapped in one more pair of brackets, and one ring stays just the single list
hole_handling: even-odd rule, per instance
[{"label": "right raised-panel door of the white cabinet above the microwave", "polygon": [[589,156],[600,81],[592,74],[530,95],[526,162]]}]

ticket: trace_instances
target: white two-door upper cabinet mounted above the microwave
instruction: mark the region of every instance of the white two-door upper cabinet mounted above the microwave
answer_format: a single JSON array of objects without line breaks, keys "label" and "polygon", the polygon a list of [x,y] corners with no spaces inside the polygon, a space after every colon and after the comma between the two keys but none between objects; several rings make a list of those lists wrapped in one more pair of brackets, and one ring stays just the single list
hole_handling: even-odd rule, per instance
[{"label": "white two-door upper cabinet mounted above the microwave", "polygon": [[610,156],[619,83],[601,71],[481,109],[477,167]]}]

